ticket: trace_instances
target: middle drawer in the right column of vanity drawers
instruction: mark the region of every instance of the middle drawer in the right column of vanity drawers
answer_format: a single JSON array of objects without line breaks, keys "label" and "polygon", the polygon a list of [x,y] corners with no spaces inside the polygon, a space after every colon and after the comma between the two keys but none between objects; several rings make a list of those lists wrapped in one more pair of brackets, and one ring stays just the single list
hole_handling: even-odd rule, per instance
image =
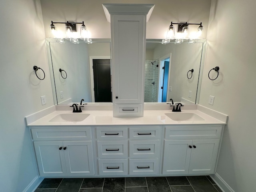
[{"label": "middle drawer in the right column of vanity drawers", "polygon": [[159,140],[130,140],[129,155],[130,158],[154,158],[160,156]]}]

